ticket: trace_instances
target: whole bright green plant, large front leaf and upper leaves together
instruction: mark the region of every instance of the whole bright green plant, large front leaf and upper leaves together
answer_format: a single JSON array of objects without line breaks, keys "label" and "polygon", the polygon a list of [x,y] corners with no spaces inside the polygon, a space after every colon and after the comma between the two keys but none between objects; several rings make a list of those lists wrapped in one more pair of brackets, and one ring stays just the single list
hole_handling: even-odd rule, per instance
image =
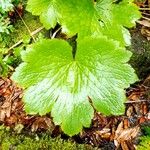
[{"label": "whole bright green plant, large front leaf and upper leaves together", "polygon": [[68,40],[44,39],[22,53],[12,79],[25,89],[26,112],[51,112],[70,136],[90,126],[94,109],[124,113],[124,88],[137,80],[124,48],[130,44],[126,28],[140,18],[132,1],[29,0],[27,10],[46,29],[59,23]]}]

